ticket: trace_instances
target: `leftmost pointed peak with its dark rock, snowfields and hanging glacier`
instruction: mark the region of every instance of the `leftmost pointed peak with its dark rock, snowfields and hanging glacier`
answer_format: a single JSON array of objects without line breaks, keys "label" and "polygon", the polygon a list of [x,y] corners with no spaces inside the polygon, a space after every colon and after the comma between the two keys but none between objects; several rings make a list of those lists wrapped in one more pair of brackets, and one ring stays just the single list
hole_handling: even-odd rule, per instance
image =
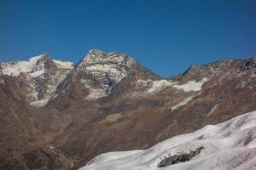
[{"label": "leftmost pointed peak with its dark rock, snowfields and hanging glacier", "polygon": [[55,95],[55,88],[73,69],[73,62],[51,59],[44,53],[26,61],[0,63],[0,74],[19,77],[26,82],[30,105],[45,105]]}]

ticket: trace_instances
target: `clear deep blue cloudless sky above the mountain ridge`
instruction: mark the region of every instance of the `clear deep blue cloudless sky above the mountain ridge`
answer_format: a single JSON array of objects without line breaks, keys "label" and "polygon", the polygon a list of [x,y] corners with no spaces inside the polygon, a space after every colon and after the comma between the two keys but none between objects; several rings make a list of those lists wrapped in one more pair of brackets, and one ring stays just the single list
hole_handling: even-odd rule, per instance
[{"label": "clear deep blue cloudless sky above the mountain ridge", "polygon": [[0,60],[121,51],[162,77],[256,55],[256,0],[0,0]]}]

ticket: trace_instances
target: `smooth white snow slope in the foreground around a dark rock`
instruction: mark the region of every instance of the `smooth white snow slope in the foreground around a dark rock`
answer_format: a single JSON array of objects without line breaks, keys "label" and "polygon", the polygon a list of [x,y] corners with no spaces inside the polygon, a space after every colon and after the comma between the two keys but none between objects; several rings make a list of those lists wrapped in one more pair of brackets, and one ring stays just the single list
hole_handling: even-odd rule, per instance
[{"label": "smooth white snow slope in the foreground around a dark rock", "polygon": [[[160,167],[167,157],[201,149],[190,161]],[[253,170],[256,169],[256,111],[194,133],[167,139],[148,150],[109,152],[80,170]]]}]

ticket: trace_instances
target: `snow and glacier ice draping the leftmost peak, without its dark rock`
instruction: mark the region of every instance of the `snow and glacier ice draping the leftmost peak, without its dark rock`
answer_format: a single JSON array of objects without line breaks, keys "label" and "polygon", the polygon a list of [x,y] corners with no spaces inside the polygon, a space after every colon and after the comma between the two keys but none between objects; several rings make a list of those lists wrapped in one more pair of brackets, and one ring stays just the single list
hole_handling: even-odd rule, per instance
[{"label": "snow and glacier ice draping the leftmost peak, without its dark rock", "polygon": [[[53,59],[55,65],[59,68],[50,77],[44,77],[44,73],[47,73],[47,68],[45,68],[44,57],[47,54],[40,54],[38,56],[27,59],[26,61],[9,61],[0,63],[2,71],[0,74],[9,75],[12,77],[18,77],[21,73],[25,76],[25,81],[29,85],[27,94],[32,98],[30,105],[33,106],[43,106],[46,105],[49,99],[55,94],[56,87],[63,81],[69,71],[73,69],[73,62],[61,61]],[[40,77],[42,80],[48,78],[48,85],[46,92],[44,93],[43,99],[38,99],[38,87],[40,87],[40,82],[37,82],[36,78]]]}]

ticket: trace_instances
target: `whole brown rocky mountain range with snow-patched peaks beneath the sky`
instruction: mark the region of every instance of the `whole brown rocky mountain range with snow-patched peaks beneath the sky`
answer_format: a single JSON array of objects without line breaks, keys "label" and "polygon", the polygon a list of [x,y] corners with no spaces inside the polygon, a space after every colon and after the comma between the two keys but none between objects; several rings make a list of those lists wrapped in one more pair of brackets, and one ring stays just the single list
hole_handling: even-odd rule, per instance
[{"label": "whole brown rocky mountain range with snow-patched peaks beneath the sky", "polygon": [[256,111],[255,85],[255,58],[192,65],[167,79],[100,50],[76,65],[49,54],[1,63],[1,168],[77,169],[103,152],[148,149]]}]

